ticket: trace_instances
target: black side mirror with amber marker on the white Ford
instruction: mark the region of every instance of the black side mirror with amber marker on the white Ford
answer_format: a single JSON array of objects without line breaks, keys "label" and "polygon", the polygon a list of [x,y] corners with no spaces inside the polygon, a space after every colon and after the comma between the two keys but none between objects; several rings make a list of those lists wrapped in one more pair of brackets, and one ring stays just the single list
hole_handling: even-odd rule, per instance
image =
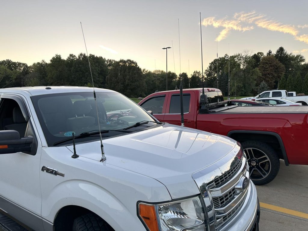
[{"label": "black side mirror with amber marker on the white Ford", "polygon": [[0,131],[0,154],[29,152],[34,138],[20,138],[19,132],[15,130]]}]

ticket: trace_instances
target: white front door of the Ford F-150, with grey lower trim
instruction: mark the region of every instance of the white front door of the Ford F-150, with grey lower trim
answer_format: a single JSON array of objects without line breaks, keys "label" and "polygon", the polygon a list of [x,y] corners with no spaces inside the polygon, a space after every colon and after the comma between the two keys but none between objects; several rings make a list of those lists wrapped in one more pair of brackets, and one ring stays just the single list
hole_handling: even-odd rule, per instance
[{"label": "white front door of the Ford F-150, with grey lower trim", "polygon": [[[26,99],[23,100],[26,101]],[[5,127],[10,127],[10,125],[4,125],[4,121],[6,121],[6,123],[7,121],[11,121],[10,123],[13,123],[11,125],[18,126],[18,122],[16,121],[17,116],[15,115],[11,118],[11,116],[13,115],[12,110],[18,107],[18,103],[13,99],[2,98],[0,105],[0,130],[7,130],[5,129]],[[16,109],[14,111],[14,113],[16,113]],[[9,120],[10,118],[11,120]],[[33,129],[31,129],[33,128],[33,126],[31,125],[33,124],[31,119],[32,118],[30,117],[28,122],[25,121],[27,123],[27,126],[24,130],[24,133],[20,133],[21,136],[35,136],[35,134],[33,134]],[[20,118],[18,118],[18,120],[20,120]],[[39,142],[39,139],[37,137],[36,140]],[[39,144],[35,155],[30,155],[22,152],[0,154],[0,196],[7,201],[10,201],[12,204],[20,206],[21,209],[29,211],[34,216],[39,217],[39,219],[41,219],[40,217],[42,203],[39,177],[41,151],[42,145]],[[0,208],[4,208],[4,206],[5,204],[1,204],[0,201]],[[20,215],[20,213],[13,214],[10,212],[10,215],[18,219],[18,215]],[[30,222],[30,219],[25,220],[22,217],[19,217],[19,220],[22,223],[33,227],[33,224],[27,224],[27,222]],[[40,229],[38,230],[43,230],[42,222],[40,222],[38,226],[37,224],[35,224],[36,229],[40,225],[42,227],[40,227]]]}]

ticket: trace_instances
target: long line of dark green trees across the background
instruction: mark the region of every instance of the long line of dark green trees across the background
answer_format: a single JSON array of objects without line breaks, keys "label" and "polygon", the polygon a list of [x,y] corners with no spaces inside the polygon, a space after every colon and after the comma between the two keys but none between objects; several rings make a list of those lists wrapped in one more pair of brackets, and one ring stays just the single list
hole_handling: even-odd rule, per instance
[{"label": "long line of dark green trees across the background", "polygon": [[[110,60],[89,55],[95,87],[107,88],[128,97],[144,97],[156,90],[166,89],[166,72],[141,69],[133,60]],[[308,63],[302,55],[294,55],[279,47],[271,51],[250,54],[225,55],[213,60],[205,70],[205,87],[215,87],[228,94],[230,66],[231,95],[250,96],[268,89],[286,89],[308,94]],[[230,63],[230,65],[229,65]],[[183,88],[201,87],[201,72],[190,76],[183,72],[177,75],[168,72],[168,90],[179,88],[180,78]],[[63,59],[55,55],[47,63],[44,60],[28,66],[12,60],[0,61],[0,88],[23,86],[92,86],[87,56],[83,53],[69,55]]]}]

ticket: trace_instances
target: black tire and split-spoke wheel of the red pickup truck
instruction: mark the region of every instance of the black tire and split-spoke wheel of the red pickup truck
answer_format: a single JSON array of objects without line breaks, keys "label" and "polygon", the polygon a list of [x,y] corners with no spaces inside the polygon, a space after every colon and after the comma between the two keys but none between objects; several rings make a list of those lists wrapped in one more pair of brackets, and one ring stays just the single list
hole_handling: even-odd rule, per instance
[{"label": "black tire and split-spoke wheel of the red pickup truck", "polygon": [[250,179],[255,185],[270,183],[278,174],[280,162],[276,151],[265,142],[248,140],[241,143],[249,164]]}]

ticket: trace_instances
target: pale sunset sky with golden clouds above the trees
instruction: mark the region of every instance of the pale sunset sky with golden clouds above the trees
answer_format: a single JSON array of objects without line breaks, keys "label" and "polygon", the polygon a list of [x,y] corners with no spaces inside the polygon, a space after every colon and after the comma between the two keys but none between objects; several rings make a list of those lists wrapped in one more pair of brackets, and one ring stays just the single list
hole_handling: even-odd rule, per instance
[{"label": "pale sunset sky with golden clouds above the trees", "polygon": [[[83,52],[140,68],[201,71],[217,56],[284,47],[308,61],[308,1],[0,0],[0,60],[28,65]],[[180,35],[180,39],[179,39]],[[218,42],[216,41],[218,38]],[[217,44],[218,43],[218,44]]]}]

